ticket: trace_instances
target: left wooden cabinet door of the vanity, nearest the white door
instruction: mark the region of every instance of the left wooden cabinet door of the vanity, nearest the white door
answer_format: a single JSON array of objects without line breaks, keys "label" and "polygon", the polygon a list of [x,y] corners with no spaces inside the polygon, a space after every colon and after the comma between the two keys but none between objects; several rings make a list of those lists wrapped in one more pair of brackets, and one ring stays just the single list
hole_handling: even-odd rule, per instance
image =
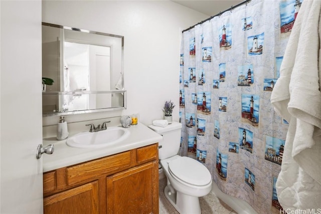
[{"label": "left wooden cabinet door of the vanity, nearest the white door", "polygon": [[98,181],[44,198],[44,213],[98,214]]}]

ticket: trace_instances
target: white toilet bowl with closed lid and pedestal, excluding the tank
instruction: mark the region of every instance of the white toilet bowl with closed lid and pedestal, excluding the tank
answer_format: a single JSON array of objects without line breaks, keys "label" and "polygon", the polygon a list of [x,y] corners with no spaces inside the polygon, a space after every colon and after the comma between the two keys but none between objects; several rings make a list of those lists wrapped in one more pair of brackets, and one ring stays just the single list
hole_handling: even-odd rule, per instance
[{"label": "white toilet bowl with closed lid and pedestal, excluding the tank", "polygon": [[209,170],[197,160],[179,155],[160,162],[168,179],[165,197],[181,214],[201,213],[199,197],[212,189]]}]

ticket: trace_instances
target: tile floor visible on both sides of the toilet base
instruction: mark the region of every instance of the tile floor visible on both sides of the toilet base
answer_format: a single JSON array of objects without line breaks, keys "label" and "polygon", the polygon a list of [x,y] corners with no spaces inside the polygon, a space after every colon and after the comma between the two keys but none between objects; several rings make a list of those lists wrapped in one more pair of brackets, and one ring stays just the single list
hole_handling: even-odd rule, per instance
[{"label": "tile floor visible on both sides of the toilet base", "polygon": [[[159,214],[179,214],[164,195],[166,177],[159,180]],[[220,200],[213,192],[200,197],[202,214],[236,214],[231,207]]]}]

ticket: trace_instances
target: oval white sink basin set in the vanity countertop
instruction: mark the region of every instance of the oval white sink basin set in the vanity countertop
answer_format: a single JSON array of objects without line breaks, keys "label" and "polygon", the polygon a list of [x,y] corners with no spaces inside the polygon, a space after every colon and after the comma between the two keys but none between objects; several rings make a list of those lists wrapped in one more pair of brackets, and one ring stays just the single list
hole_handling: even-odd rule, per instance
[{"label": "oval white sink basin set in the vanity countertop", "polygon": [[129,134],[129,130],[122,127],[107,127],[103,131],[75,134],[67,139],[66,144],[76,148],[102,148],[126,139]]}]

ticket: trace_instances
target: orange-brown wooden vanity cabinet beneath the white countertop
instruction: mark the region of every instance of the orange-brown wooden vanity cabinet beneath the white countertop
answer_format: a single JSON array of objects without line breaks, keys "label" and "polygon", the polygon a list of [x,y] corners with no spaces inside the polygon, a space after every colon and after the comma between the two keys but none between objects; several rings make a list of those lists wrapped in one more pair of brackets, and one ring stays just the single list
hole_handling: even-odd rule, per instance
[{"label": "orange-brown wooden vanity cabinet beneath the white countertop", "polygon": [[44,213],[158,213],[158,144],[45,172]]}]

